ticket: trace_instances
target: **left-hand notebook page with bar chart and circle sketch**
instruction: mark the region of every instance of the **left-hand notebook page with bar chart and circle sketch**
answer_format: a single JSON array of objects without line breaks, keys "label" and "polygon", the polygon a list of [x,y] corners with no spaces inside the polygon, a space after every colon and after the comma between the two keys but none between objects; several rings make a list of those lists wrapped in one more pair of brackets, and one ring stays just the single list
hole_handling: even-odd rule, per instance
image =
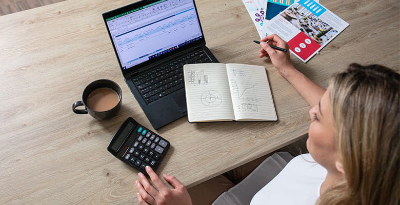
[{"label": "left-hand notebook page with bar chart and circle sketch", "polygon": [[188,64],[184,77],[190,122],[234,119],[225,64]]}]

